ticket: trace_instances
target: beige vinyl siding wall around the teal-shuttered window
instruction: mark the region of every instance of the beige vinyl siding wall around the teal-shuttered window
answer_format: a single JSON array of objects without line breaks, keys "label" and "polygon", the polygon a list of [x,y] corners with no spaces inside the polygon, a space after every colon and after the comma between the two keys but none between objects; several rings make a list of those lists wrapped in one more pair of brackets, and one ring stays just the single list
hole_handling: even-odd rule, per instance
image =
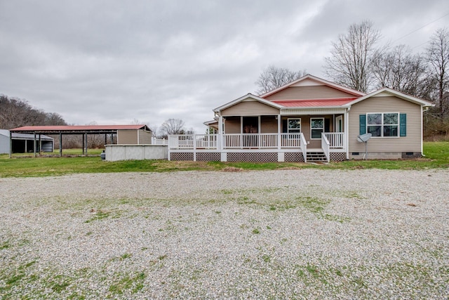
[{"label": "beige vinyl siding wall around the teal-shuttered window", "polygon": [[372,97],[352,105],[349,111],[349,152],[365,152],[364,143],[357,141],[358,116],[368,112],[407,114],[407,136],[370,138],[368,152],[421,152],[422,108],[420,105],[394,96]]}]

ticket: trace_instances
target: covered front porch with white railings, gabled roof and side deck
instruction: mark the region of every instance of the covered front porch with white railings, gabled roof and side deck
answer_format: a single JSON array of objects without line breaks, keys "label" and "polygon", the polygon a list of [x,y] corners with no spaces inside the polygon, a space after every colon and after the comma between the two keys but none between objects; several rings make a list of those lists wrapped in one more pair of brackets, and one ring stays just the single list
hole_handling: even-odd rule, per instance
[{"label": "covered front porch with white railings, gabled roof and side deck", "polygon": [[290,104],[251,95],[234,100],[214,110],[215,119],[204,123],[205,134],[169,136],[168,157],[222,162],[347,159],[347,107]]}]

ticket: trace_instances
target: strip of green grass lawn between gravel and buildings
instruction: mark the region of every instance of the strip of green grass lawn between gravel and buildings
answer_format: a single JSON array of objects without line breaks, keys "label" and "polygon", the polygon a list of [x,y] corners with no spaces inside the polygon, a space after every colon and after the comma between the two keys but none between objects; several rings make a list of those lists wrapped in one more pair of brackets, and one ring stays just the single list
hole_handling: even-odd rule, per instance
[{"label": "strip of green grass lawn between gravel and buildings", "polygon": [[[0,177],[60,176],[76,173],[112,172],[166,172],[166,171],[220,171],[224,169],[434,169],[449,167],[449,142],[424,142],[424,158],[399,160],[348,160],[328,165],[292,162],[169,162],[166,160],[127,160],[105,162],[100,159],[102,150],[88,150],[88,156],[79,156],[81,149],[64,150],[63,157],[48,154],[34,158],[32,155],[0,155]],[[59,152],[53,153],[58,155]]]}]

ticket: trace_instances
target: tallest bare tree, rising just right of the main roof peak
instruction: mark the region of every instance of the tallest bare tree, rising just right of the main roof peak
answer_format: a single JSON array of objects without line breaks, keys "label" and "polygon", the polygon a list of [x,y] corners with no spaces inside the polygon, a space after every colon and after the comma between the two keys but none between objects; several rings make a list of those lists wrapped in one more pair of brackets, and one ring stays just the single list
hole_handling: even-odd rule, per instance
[{"label": "tallest bare tree, rising just right of the main roof peak", "polygon": [[372,74],[370,60],[380,31],[368,20],[349,26],[347,34],[340,34],[332,43],[331,56],[326,58],[326,74],[337,84],[366,92]]}]

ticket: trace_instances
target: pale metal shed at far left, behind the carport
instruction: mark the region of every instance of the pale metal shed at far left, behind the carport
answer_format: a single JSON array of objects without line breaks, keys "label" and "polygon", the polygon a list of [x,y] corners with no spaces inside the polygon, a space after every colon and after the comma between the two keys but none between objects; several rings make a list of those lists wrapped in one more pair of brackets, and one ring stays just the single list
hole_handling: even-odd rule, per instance
[{"label": "pale metal shed at far left, behind the carport", "polygon": [[0,154],[10,152],[12,143],[12,150],[15,153],[34,152],[34,138],[36,138],[36,151],[53,152],[55,148],[55,141],[50,136],[37,135],[29,133],[13,133],[6,129],[0,129]]}]

